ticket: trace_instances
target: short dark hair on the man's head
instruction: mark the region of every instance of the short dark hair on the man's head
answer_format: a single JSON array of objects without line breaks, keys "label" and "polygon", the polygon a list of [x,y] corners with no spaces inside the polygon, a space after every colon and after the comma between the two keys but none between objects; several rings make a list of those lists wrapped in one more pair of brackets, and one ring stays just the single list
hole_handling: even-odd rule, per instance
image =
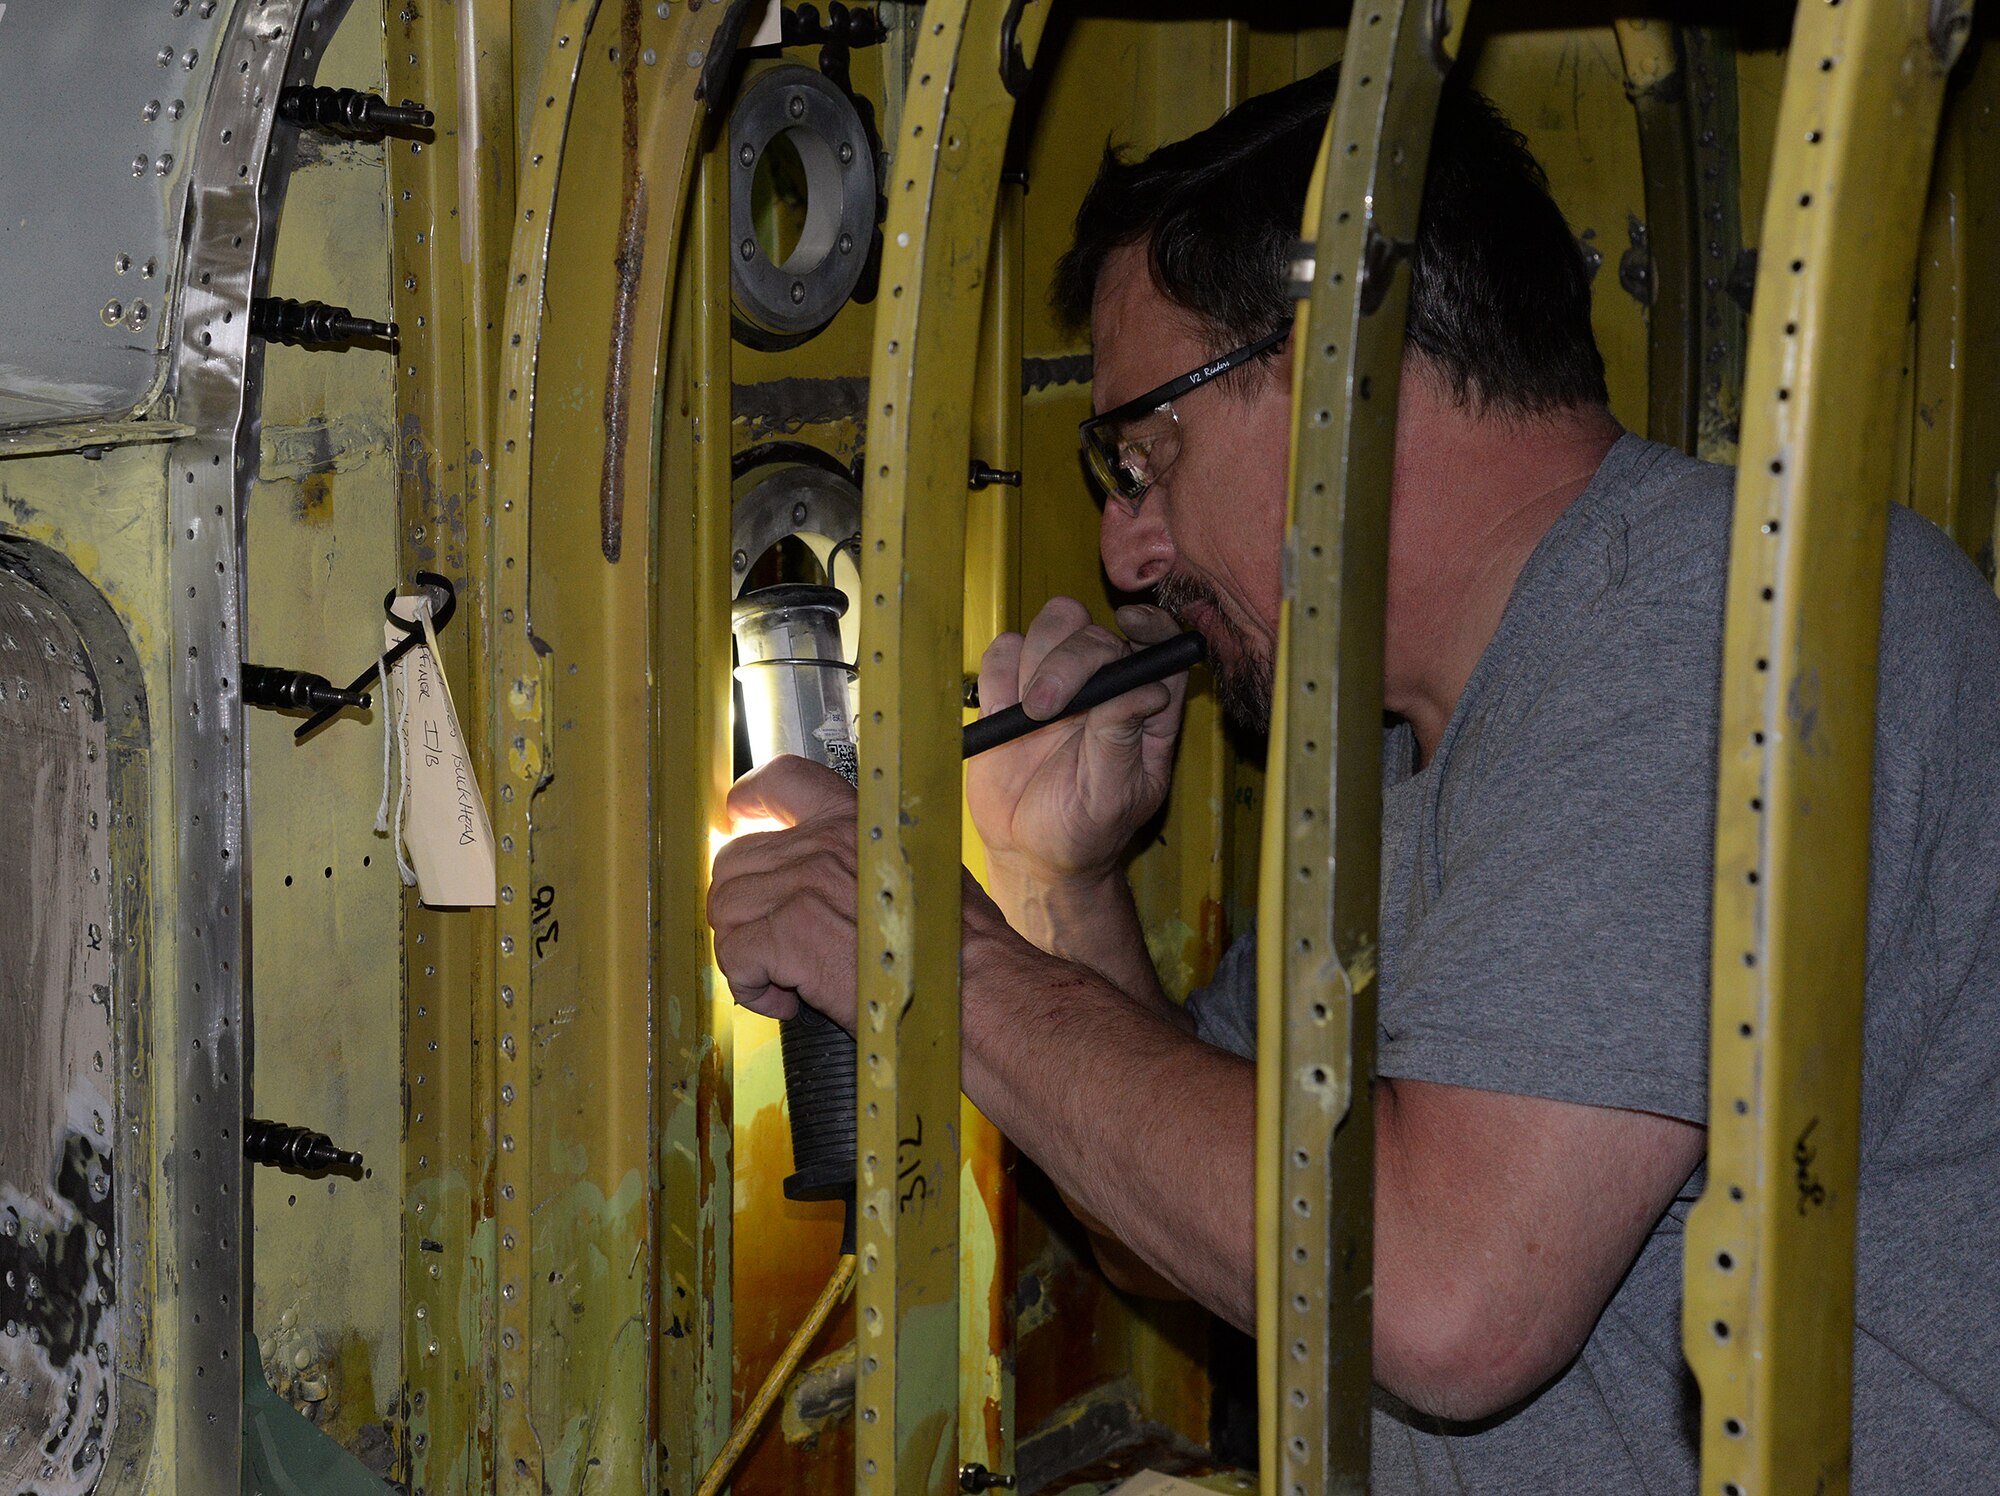
[{"label": "short dark hair on the man's head", "polygon": [[[1104,260],[1150,240],[1154,284],[1220,342],[1288,324],[1286,276],[1336,84],[1326,68],[1260,94],[1144,160],[1108,148],[1056,266],[1064,320],[1088,326]],[[1528,142],[1464,84],[1446,82],[1438,104],[1406,338],[1460,400],[1516,414],[1608,402],[1584,256]]]}]

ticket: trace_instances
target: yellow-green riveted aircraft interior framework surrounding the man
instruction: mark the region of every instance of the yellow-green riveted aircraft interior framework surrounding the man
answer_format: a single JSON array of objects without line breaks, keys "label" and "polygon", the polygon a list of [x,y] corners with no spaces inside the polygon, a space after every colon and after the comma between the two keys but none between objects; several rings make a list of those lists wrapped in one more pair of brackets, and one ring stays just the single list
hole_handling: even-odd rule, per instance
[{"label": "yellow-green riveted aircraft interior framework surrounding the man", "polygon": [[[1384,572],[1464,78],[1612,414],[1736,468],[1688,1416],[1702,1496],[1848,1492],[1884,520],[1992,584],[1994,12],[0,4],[0,1490],[1370,1490]],[[996,634],[1126,600],[1050,300],[1106,148],[1330,64],[1270,734],[1196,668],[1124,864],[1176,1002],[1262,930],[1250,1336],[1114,1288],[960,1092],[962,734]],[[858,792],[852,1040],[716,966],[776,752]]]}]

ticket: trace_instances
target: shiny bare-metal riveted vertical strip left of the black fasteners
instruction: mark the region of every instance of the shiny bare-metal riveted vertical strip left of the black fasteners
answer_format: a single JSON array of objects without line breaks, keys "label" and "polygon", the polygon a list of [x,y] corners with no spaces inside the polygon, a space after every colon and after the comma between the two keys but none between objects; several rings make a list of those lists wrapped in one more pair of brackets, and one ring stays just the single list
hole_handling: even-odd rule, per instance
[{"label": "shiny bare-metal riveted vertical strip left of the black fasteners", "polygon": [[[270,264],[290,134],[272,148],[278,90],[306,82],[344,0],[236,0],[194,160],[188,276],[172,400],[192,434],[166,464],[174,598],[170,722],[176,1104],[160,1168],[178,1280],[174,1390],[180,1490],[234,1492],[242,1466],[248,1086],[248,838],[236,684],[244,654],[242,526],[258,460],[262,348],[250,300]],[[178,4],[178,0],[174,0]],[[196,8],[206,0],[196,0]],[[4,24],[4,22],[0,22]],[[190,1376],[192,1374],[192,1376]]]}]

